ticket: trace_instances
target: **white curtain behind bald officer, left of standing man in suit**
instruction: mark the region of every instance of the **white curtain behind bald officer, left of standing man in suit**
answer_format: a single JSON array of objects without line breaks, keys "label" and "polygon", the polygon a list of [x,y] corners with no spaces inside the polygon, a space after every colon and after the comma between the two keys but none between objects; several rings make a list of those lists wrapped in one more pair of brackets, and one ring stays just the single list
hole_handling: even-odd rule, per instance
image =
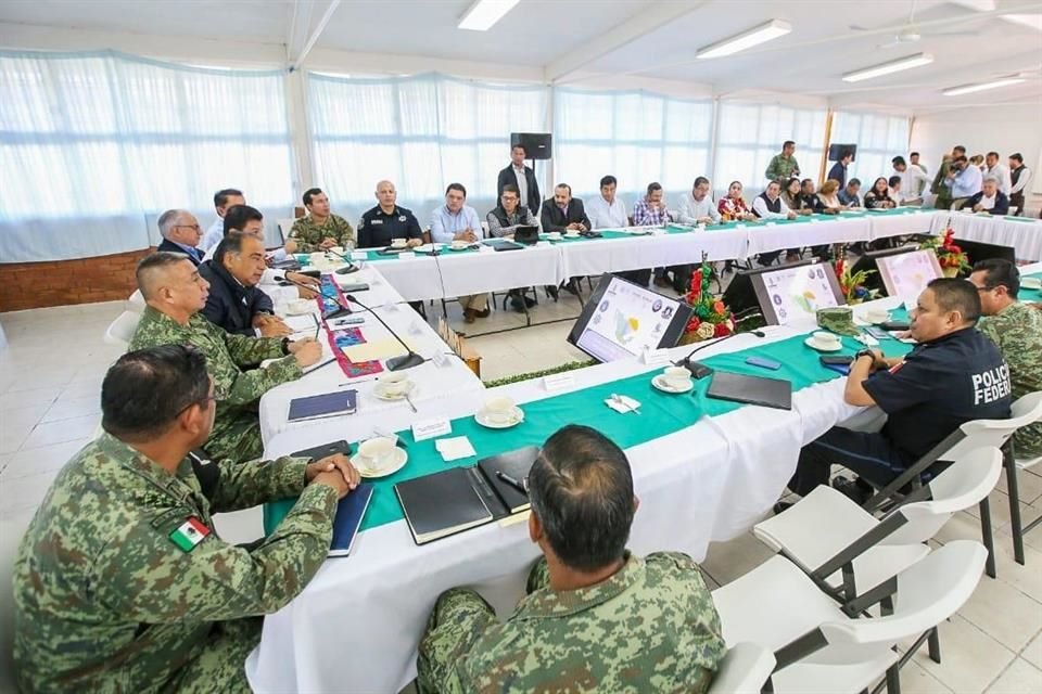
[{"label": "white curtain behind bald officer, left of standing man in suit", "polygon": [[[548,131],[548,97],[543,87],[442,75],[352,79],[309,73],[310,184],[323,189],[334,211],[353,224],[376,205],[382,179],[394,182],[398,204],[421,227],[454,182],[463,184],[467,203],[484,219],[495,206],[496,177],[510,162],[510,133]],[[543,169],[536,170],[542,177]]]}]

